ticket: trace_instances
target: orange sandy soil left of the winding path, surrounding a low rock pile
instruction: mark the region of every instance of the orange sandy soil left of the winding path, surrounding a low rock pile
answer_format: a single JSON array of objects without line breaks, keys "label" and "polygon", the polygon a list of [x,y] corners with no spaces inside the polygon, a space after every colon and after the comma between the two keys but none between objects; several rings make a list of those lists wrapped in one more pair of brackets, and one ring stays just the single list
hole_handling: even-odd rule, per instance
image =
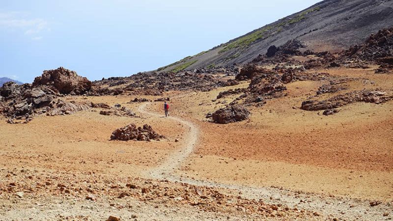
[{"label": "orange sandy soil left of the winding path, surrounding a low rock pile", "polygon": [[[82,100],[83,98],[68,98]],[[131,97],[89,97],[88,100],[111,106],[124,104],[136,112],[140,105],[126,104]],[[122,172],[138,175],[146,167],[157,166],[181,143],[174,142],[183,133],[182,125],[168,125],[163,120],[152,122],[141,117],[105,116],[100,109],[80,111],[65,116],[38,116],[29,124],[7,124],[0,121],[1,164],[11,161],[30,166],[75,171]],[[166,135],[161,141],[124,142],[110,140],[112,132],[130,123],[149,124]],[[154,148],[151,148],[154,146]],[[6,163],[7,162],[7,163]],[[131,168],[131,169],[130,169]]]}]

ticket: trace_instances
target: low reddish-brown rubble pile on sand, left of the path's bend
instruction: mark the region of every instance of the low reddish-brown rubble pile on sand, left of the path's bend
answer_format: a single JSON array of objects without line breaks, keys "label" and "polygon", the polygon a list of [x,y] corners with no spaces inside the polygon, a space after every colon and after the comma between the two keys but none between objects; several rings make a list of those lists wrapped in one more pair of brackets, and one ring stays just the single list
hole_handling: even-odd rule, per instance
[{"label": "low reddish-brown rubble pile on sand, left of the path's bend", "polygon": [[159,140],[165,138],[162,135],[157,134],[151,126],[145,124],[143,127],[135,126],[135,124],[127,125],[123,128],[119,128],[113,131],[111,139],[117,140],[139,140],[139,141],[150,141],[151,139]]}]

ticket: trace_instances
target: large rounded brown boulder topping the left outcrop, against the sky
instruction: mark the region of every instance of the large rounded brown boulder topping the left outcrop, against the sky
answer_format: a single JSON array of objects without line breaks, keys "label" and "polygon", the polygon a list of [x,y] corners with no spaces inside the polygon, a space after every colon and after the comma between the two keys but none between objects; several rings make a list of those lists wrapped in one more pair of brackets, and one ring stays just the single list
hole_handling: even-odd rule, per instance
[{"label": "large rounded brown boulder topping the left outcrop, against the sky", "polygon": [[75,71],[59,67],[56,70],[44,71],[42,76],[36,77],[33,87],[39,85],[53,86],[61,94],[81,95],[90,90],[92,83]]}]

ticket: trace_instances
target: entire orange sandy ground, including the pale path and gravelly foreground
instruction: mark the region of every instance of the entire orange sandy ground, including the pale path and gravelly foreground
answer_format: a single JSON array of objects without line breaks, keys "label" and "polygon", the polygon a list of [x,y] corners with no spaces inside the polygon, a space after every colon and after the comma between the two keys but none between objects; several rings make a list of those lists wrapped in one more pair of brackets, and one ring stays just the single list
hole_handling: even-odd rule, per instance
[{"label": "entire orange sandy ground, including the pale path and gravelly foreground", "polygon": [[[348,90],[393,88],[392,75],[377,75],[372,69],[320,71],[361,79],[348,83]],[[228,125],[207,122],[205,114],[236,97],[216,100],[220,91],[247,83],[210,92],[171,92],[169,118],[160,115],[160,102],[127,103],[136,96],[67,97],[118,103],[136,112],[140,116],[136,118],[104,116],[100,109],[42,115],[20,125],[1,118],[0,216],[3,220],[104,220],[109,215],[121,220],[391,219],[393,102],[355,103],[333,116],[300,110],[302,101],[323,83],[287,84],[287,96],[267,100],[263,107],[251,108],[250,120]],[[149,124],[167,138],[109,140],[113,130],[129,123]],[[164,180],[168,183],[161,188]],[[149,196],[154,200],[139,192],[118,198],[128,182],[157,189]],[[62,183],[66,183],[63,190],[58,186]],[[217,190],[227,195],[227,201],[204,202],[214,198],[209,196],[198,199],[198,204],[184,195],[165,195],[180,194],[182,183]],[[85,199],[89,185],[96,185],[95,201]],[[111,190],[113,185],[118,187]],[[64,194],[64,189],[70,193]],[[238,197],[244,201],[237,203],[252,208],[230,203]],[[253,200],[280,209],[257,212],[263,211],[262,205]],[[371,207],[370,201],[381,204]]]}]

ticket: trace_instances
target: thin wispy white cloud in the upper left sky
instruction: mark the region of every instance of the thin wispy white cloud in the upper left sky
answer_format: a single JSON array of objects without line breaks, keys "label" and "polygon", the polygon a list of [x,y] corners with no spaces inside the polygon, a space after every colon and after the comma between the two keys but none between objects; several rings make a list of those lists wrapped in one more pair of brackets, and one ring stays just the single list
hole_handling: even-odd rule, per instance
[{"label": "thin wispy white cloud in the upper left sky", "polygon": [[[49,31],[48,22],[41,18],[27,18],[27,14],[21,12],[0,12],[0,28],[20,30],[26,35],[35,35],[42,31]],[[33,37],[33,40],[42,39],[41,36]]]}]

